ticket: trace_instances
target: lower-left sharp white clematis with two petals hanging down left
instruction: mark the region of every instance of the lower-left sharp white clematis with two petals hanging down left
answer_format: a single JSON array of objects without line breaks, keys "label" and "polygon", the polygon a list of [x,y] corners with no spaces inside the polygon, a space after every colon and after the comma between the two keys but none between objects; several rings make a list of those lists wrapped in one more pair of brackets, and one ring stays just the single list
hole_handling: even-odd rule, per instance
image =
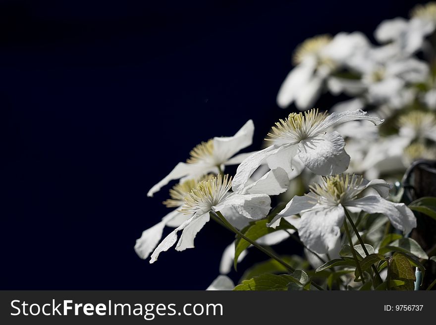
[{"label": "lower-left sharp white clematis with two petals hanging down left", "polygon": [[[263,186],[262,182],[258,184]],[[266,187],[269,186],[268,184]],[[175,244],[179,231],[182,231],[182,234],[175,249],[182,251],[193,248],[194,238],[209,221],[211,211],[226,209],[233,216],[252,220],[262,219],[270,211],[271,199],[267,194],[250,194],[250,190],[257,190],[256,187],[252,186],[250,189],[240,187],[239,190],[229,193],[230,187],[231,178],[229,179],[228,175],[222,177],[221,174],[212,180],[197,184],[196,188],[185,197],[185,204],[180,209],[185,215],[190,216],[189,219],[162,240],[151,255],[150,263],[154,263],[162,251],[168,250]]]}]

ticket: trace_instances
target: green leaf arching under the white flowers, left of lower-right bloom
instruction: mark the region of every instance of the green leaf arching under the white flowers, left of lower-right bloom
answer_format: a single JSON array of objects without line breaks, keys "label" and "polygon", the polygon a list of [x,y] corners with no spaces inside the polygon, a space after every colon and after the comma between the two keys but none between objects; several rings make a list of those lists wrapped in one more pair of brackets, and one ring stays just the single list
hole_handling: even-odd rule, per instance
[{"label": "green leaf arching under the white flowers, left of lower-right bloom", "polygon": [[[276,232],[283,229],[295,229],[291,224],[289,224],[286,220],[283,218],[280,220],[280,225],[274,229],[267,227],[267,224],[270,222],[269,218],[257,220],[251,222],[247,227],[241,230],[241,232],[247,236],[248,238],[254,240],[257,240],[269,233]],[[289,227],[289,226],[290,227]],[[251,244],[246,241],[245,239],[241,237],[237,237],[235,240],[235,258],[234,258],[234,268],[236,270],[237,264],[238,264],[238,257],[239,255],[247,249]]]}]

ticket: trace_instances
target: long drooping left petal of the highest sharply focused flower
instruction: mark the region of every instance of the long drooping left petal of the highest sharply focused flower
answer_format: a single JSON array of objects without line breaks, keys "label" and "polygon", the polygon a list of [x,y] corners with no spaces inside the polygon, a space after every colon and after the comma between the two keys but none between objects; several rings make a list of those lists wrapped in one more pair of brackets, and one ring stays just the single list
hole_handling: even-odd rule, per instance
[{"label": "long drooping left petal of the highest sharply focused flower", "polygon": [[267,158],[276,154],[279,151],[286,150],[290,145],[271,145],[263,150],[253,153],[246,158],[236,170],[236,175],[232,181],[232,189],[234,192],[242,192],[244,187],[247,186],[250,176],[254,171],[263,163]]}]

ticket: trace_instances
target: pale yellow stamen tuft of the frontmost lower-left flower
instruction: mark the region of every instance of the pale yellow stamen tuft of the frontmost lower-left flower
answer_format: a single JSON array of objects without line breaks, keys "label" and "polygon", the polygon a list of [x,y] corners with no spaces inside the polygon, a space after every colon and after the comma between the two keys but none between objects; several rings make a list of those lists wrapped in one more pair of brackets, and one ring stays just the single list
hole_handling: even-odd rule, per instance
[{"label": "pale yellow stamen tuft of the frontmost lower-left flower", "polygon": [[185,197],[185,205],[180,212],[192,215],[196,212],[207,213],[225,197],[231,188],[231,177],[218,174],[209,181],[202,181]]}]

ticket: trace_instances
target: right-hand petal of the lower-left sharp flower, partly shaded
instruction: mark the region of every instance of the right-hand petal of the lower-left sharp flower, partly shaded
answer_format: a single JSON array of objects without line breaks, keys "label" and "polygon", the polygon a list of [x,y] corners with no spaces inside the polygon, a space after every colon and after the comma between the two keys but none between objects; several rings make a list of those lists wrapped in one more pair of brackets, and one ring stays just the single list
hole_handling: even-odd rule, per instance
[{"label": "right-hand petal of the lower-left sharp flower, partly shaded", "polygon": [[262,219],[271,209],[271,199],[266,194],[237,194],[232,193],[218,205],[212,207],[220,211],[224,207],[232,207],[237,213],[250,219]]}]

